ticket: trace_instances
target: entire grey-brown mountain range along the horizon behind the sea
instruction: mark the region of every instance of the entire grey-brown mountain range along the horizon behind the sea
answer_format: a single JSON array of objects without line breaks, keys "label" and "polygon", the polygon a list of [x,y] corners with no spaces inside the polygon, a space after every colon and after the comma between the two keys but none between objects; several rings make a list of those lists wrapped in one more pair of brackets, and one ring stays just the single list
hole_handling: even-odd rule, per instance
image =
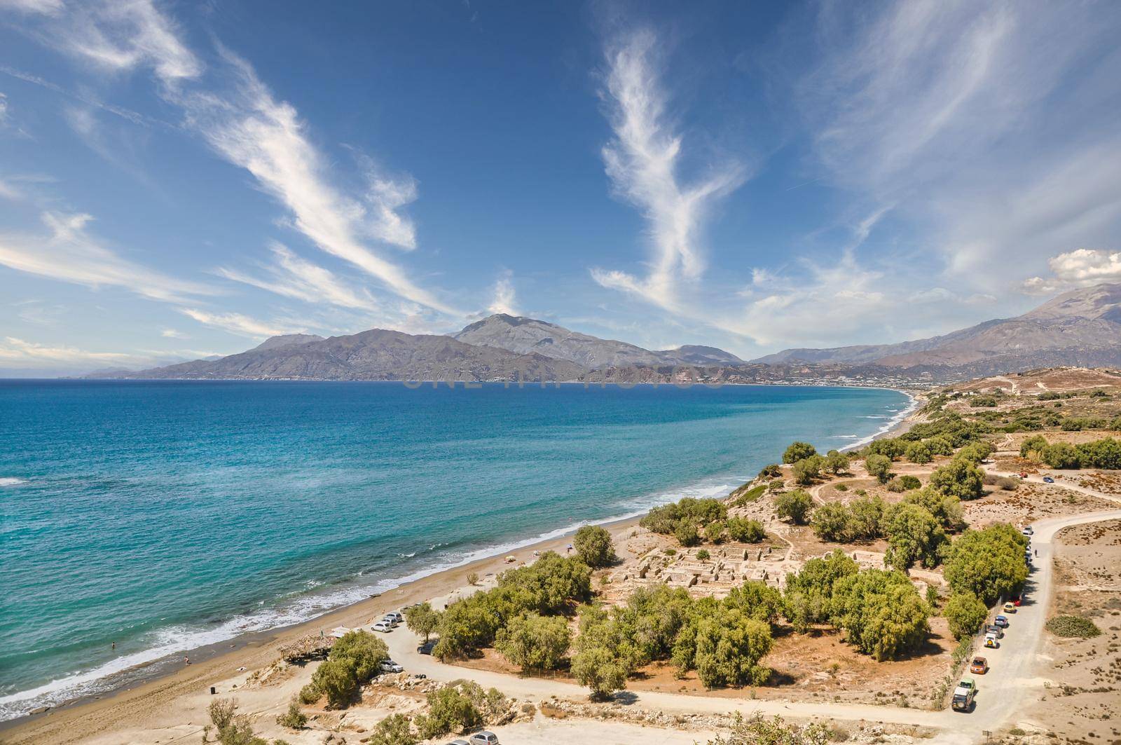
[{"label": "entire grey-brown mountain range along the horizon behind the sea", "polygon": [[1071,291],[1012,319],[892,344],[787,349],[747,362],[715,347],[648,350],[503,313],[453,335],[372,329],[272,337],[248,351],[90,377],[734,383],[962,379],[1057,365],[1121,366],[1121,284]]}]

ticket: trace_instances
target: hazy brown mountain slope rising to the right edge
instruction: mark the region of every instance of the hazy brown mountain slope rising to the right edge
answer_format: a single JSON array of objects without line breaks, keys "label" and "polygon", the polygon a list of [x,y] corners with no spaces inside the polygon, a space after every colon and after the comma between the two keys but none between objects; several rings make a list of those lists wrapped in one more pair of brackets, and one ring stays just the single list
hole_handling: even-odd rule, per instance
[{"label": "hazy brown mountain slope rising to the right edge", "polygon": [[1121,365],[1121,284],[1074,289],[1013,319],[897,344],[787,349],[765,365],[849,364],[889,368],[962,368],[992,375],[1055,365]]}]

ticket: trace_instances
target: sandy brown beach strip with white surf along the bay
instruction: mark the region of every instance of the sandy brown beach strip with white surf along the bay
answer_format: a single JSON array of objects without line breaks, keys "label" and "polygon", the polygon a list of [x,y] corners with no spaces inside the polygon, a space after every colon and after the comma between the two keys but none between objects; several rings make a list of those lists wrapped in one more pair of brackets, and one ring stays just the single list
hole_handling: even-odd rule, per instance
[{"label": "sandy brown beach strip with white surf along the bay", "polygon": [[[822,387],[871,388],[873,386]],[[891,421],[879,431],[851,445],[846,445],[842,449],[843,451],[861,448],[868,442],[886,436],[898,436],[898,434],[906,432],[914,423],[915,412],[920,404],[917,395],[900,388],[874,387],[904,394],[910,399],[910,403],[892,416]],[[748,482],[750,480],[751,477],[748,478]],[[729,491],[735,488],[736,486],[733,485]],[[407,574],[405,578],[401,578],[404,581],[400,585],[390,587],[356,603],[339,606],[306,620],[268,629],[245,632],[228,640],[139,663],[120,672],[112,673],[109,679],[112,680],[113,677],[118,677],[120,682],[111,684],[103,692],[77,696],[62,703],[47,707],[45,710],[37,710],[36,712],[28,712],[0,721],[0,736],[6,737],[18,734],[25,729],[34,730],[40,723],[57,721],[59,715],[65,715],[65,719],[70,720],[86,716],[86,712],[98,716],[100,711],[106,710],[110,707],[119,705],[128,707],[154,696],[158,699],[164,699],[173,690],[176,691],[173,698],[175,696],[187,695],[191,692],[188,691],[189,688],[193,688],[195,684],[203,684],[200,682],[201,679],[209,679],[213,682],[233,677],[243,669],[267,666],[279,656],[278,649],[281,645],[288,644],[300,636],[318,631],[326,632],[340,625],[368,625],[377,616],[392,609],[398,609],[402,605],[428,600],[433,597],[462,589],[467,573],[475,572],[480,577],[483,577],[485,573],[499,573],[503,569],[516,567],[530,560],[535,552],[556,550],[563,553],[568,539],[581,525],[601,525],[611,531],[612,534],[624,533],[636,527],[640,517],[646,512],[646,509],[642,509],[622,516],[604,518],[603,521],[574,524],[563,528],[546,531],[538,536],[527,539],[525,542],[504,543],[481,549],[479,552],[475,552],[476,558],[474,559],[437,569],[430,573],[423,573],[424,570],[421,570],[414,574]],[[482,554],[482,552],[487,553]],[[507,555],[516,557],[518,560],[517,563],[507,563]],[[453,578],[456,579],[453,580]],[[183,655],[184,659],[189,656],[191,663],[184,664],[180,660],[172,660],[172,657],[178,657],[179,655]],[[209,684],[205,683],[205,686]],[[193,692],[197,693],[198,690],[194,690]],[[122,703],[122,700],[124,703]],[[122,714],[121,716],[127,715]]]}]

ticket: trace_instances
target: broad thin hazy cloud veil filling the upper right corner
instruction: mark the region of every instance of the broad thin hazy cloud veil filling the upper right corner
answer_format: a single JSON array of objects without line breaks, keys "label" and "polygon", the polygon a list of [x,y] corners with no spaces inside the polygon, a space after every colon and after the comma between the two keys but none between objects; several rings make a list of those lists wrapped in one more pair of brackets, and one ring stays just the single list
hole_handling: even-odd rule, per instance
[{"label": "broad thin hazy cloud veil filling the upper right corner", "polygon": [[1054,246],[1117,234],[1121,7],[827,3],[816,21],[794,88],[817,164],[934,248],[921,282],[997,295]]}]

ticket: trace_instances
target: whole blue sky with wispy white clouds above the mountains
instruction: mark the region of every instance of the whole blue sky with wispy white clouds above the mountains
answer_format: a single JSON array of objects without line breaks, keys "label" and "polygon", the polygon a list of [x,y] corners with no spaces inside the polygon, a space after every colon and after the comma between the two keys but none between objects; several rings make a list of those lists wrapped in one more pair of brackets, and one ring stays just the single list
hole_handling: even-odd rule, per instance
[{"label": "whole blue sky with wispy white clouds above the mountains", "polygon": [[1115,2],[0,0],[0,375],[491,312],[750,358],[1121,280]]}]

